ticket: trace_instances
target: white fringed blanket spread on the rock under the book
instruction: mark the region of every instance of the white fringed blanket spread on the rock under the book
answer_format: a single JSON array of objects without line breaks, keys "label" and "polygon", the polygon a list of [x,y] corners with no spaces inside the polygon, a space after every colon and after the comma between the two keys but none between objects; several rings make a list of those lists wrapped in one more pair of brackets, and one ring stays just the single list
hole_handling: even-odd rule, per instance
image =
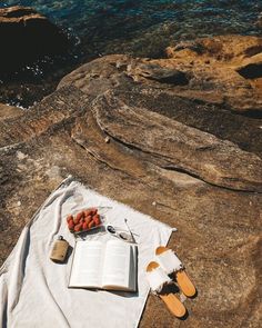
[{"label": "white fringed blanket spread on the rock under the book", "polygon": [[[84,207],[103,207],[107,221],[135,233],[139,247],[138,294],[68,289],[72,256],[67,264],[49,259],[59,235],[74,246],[66,217]],[[123,203],[113,201],[68,178],[51,193],[24,227],[11,255],[0,269],[1,327],[137,327],[148,297],[147,264],[155,247],[165,246],[172,228]],[[114,238],[93,233],[92,239]]]}]

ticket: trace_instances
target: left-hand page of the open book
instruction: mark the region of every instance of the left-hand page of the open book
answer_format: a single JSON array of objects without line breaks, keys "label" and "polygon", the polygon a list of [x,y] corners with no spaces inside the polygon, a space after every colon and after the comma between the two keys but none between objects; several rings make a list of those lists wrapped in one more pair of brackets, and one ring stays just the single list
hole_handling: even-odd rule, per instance
[{"label": "left-hand page of the open book", "polygon": [[104,245],[100,241],[75,243],[69,287],[101,287]]}]

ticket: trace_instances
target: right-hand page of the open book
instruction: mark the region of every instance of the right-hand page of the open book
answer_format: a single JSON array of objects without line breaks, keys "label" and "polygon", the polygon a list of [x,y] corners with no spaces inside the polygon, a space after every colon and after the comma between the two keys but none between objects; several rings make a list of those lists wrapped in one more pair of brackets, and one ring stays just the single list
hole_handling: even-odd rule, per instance
[{"label": "right-hand page of the open book", "polygon": [[[111,289],[130,289],[130,269],[132,246],[120,241],[110,240],[104,252],[102,287]],[[133,258],[133,256],[132,256]],[[132,288],[131,288],[132,289]]]}]

